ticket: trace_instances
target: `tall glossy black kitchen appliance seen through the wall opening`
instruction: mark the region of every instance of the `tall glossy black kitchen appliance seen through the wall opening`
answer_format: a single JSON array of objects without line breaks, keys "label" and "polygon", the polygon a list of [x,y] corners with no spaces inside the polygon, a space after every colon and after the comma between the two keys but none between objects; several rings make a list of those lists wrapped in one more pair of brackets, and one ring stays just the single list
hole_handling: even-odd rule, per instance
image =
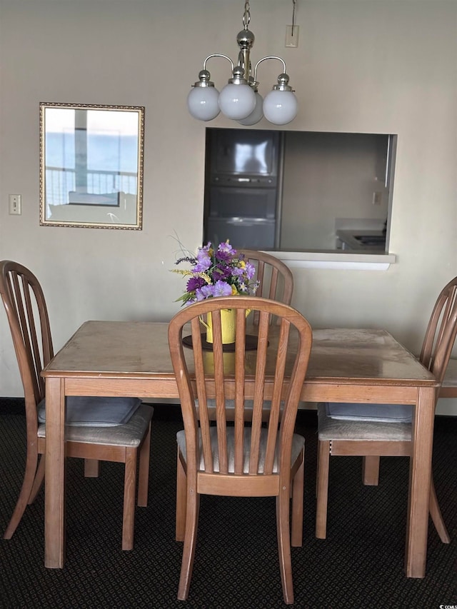
[{"label": "tall glossy black kitchen appliance seen through the wall opening", "polygon": [[204,239],[274,249],[278,218],[279,134],[209,129]]}]

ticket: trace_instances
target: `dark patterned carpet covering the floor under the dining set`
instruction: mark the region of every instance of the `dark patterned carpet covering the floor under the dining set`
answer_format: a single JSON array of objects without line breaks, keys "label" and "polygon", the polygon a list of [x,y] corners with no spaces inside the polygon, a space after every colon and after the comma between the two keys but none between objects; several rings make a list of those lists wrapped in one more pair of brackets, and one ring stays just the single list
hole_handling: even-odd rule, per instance
[{"label": "dark patterned carpet covering the floor under the dining set", "polygon": [[[16,503],[24,468],[23,402],[0,400],[0,530]],[[156,406],[149,507],[137,508],[135,547],[121,550],[123,466],[103,463],[84,479],[69,460],[66,565],[44,568],[44,491],[11,540],[0,541],[1,608],[283,607],[271,498],[201,500],[189,600],[176,600],[181,544],[174,541],[174,406]],[[295,605],[301,608],[457,606],[457,418],[437,418],[433,470],[452,541],[428,534],[426,578],[403,573],[408,460],[383,458],[381,483],[364,487],[361,459],[333,457],[328,538],[314,537],[316,416],[299,413],[306,437],[303,547],[292,548]]]}]

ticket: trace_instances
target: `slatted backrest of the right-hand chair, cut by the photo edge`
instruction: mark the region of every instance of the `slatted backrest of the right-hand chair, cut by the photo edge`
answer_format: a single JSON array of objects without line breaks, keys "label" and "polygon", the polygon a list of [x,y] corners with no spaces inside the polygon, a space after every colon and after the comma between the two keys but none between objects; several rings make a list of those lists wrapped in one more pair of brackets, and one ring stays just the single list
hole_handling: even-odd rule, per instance
[{"label": "slatted backrest of the right-hand chair, cut by the photo edge", "polygon": [[423,340],[420,360],[443,382],[457,334],[457,277],[441,290]]}]

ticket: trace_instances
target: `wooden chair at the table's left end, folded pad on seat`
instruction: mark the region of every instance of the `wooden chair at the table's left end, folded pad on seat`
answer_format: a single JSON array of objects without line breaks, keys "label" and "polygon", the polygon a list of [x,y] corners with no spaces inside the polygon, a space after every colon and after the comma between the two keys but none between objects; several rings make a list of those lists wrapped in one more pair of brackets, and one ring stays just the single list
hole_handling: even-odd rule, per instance
[{"label": "wooden chair at the table's left end, folded pad on seat", "polygon": [[[29,269],[0,262],[0,293],[8,316],[26,406],[27,453],[24,480],[4,539],[10,539],[44,480],[45,384],[42,369],[54,355],[49,316],[39,281]],[[98,461],[125,464],[122,549],[134,547],[136,468],[138,505],[146,506],[153,408],[138,398],[69,397],[66,401],[66,456],[86,459],[86,475]],[[41,458],[39,458],[41,455]]]}]

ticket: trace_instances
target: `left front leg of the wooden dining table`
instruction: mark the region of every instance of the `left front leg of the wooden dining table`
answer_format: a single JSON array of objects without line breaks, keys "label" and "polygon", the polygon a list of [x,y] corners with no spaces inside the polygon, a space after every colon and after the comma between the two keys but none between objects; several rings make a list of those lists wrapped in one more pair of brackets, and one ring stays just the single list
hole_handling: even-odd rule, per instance
[{"label": "left front leg of the wooden dining table", "polygon": [[65,393],[64,379],[46,377],[46,462],[44,565],[65,562]]}]

